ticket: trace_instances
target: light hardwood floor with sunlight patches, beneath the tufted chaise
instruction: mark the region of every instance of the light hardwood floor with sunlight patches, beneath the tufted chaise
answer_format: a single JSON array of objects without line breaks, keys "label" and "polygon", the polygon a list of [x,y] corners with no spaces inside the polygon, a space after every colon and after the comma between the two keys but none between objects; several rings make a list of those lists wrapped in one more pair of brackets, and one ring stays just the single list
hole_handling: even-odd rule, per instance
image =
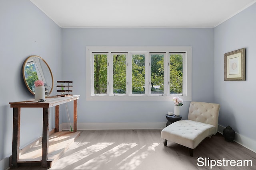
[{"label": "light hardwood floor with sunlight patches, beneath the tufted chaise", "polygon": [[[217,134],[206,138],[189,156],[188,148],[168,141],[161,130],[84,130],[49,170],[207,170],[210,160],[222,160],[213,170],[256,170],[256,153]],[[198,161],[199,158],[199,161]],[[232,167],[225,160],[252,160],[252,166]],[[204,160],[202,160],[204,159]],[[225,166],[223,165],[225,163]],[[200,166],[198,166],[198,164]],[[214,164],[214,162],[212,162]],[[220,165],[220,164],[218,164]],[[228,165],[228,166],[227,166]],[[21,166],[17,170],[45,170]]]}]

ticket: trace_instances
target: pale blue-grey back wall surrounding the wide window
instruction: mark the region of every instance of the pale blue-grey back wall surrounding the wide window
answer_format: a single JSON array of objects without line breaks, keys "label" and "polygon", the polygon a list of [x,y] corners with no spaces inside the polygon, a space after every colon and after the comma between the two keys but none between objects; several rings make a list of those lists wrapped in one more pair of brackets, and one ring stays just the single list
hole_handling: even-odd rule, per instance
[{"label": "pale blue-grey back wall surrounding the wide window", "polygon": [[[166,122],[174,110],[172,101],[86,101],[86,46],[192,46],[192,100],[214,102],[213,43],[213,28],[64,28],[63,78],[81,95],[78,123]],[[184,119],[189,104],[181,107]]]}]

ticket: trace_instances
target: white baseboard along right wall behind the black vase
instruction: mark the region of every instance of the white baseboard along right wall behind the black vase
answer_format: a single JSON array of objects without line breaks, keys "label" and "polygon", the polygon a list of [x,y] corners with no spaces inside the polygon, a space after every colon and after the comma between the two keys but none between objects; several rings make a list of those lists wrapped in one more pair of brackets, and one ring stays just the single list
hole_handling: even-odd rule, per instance
[{"label": "white baseboard along right wall behind the black vase", "polygon": [[[218,125],[218,132],[223,134],[223,129],[226,127],[223,127],[221,125]],[[235,132],[236,133],[236,132]],[[243,147],[246,147],[247,149],[252,150],[253,152],[256,152],[256,141],[253,139],[250,139],[244,135],[241,135],[239,133],[236,133],[234,141]]]}]

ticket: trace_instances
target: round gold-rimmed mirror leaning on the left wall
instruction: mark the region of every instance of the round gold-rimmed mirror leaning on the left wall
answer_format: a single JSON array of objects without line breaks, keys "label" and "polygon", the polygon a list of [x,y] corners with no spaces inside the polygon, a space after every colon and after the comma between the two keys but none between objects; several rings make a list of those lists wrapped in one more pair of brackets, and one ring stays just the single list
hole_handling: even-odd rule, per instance
[{"label": "round gold-rimmed mirror leaning on the left wall", "polygon": [[32,94],[35,94],[34,82],[36,80],[44,82],[45,96],[51,94],[53,86],[52,71],[44,59],[36,55],[28,57],[24,61],[22,71],[25,84]]}]

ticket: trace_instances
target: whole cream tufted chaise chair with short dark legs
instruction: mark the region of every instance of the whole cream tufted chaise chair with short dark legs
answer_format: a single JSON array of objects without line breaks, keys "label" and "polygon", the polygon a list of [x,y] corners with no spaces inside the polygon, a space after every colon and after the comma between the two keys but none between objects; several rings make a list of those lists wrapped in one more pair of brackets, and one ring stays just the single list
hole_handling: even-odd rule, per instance
[{"label": "whole cream tufted chaise chair with short dark legs", "polygon": [[199,143],[217,133],[219,111],[219,104],[191,102],[188,120],[176,121],[161,131],[161,137],[165,139],[164,146],[170,140],[188,147],[190,156],[193,156],[193,149]]}]

